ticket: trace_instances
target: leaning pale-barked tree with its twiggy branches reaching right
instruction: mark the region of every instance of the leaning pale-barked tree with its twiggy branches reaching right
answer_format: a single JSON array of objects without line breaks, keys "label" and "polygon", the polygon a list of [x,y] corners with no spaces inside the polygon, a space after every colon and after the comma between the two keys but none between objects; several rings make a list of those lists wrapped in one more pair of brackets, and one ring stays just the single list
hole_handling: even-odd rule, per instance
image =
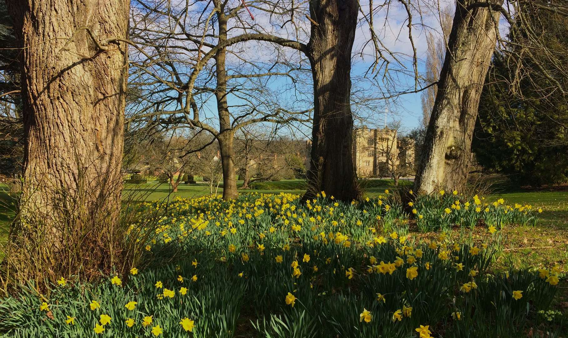
[{"label": "leaning pale-barked tree with its twiggy branches reaching right", "polygon": [[[466,184],[479,98],[496,48],[495,56],[511,69],[511,74],[499,80],[508,82],[513,97],[525,99],[519,84],[527,82],[530,85],[525,87],[540,94],[538,101],[566,95],[565,86],[555,79],[559,74],[568,76],[564,55],[542,43],[544,26],[529,18],[537,11],[568,16],[568,6],[562,1],[516,0],[508,1],[506,7],[501,0],[457,1],[417,172],[417,191],[428,193],[440,186],[460,189]],[[511,27],[509,38],[499,35],[500,18]],[[525,102],[532,100],[534,97]]]}]

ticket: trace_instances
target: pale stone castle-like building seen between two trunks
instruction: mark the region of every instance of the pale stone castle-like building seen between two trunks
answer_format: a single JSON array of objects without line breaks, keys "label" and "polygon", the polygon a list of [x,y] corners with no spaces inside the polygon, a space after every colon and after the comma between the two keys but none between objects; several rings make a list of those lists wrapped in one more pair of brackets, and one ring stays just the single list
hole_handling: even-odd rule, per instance
[{"label": "pale stone castle-like building seen between two trunks", "polygon": [[398,138],[389,128],[357,128],[353,131],[353,165],[358,177],[386,177],[393,165],[413,170],[415,144],[410,137]]}]

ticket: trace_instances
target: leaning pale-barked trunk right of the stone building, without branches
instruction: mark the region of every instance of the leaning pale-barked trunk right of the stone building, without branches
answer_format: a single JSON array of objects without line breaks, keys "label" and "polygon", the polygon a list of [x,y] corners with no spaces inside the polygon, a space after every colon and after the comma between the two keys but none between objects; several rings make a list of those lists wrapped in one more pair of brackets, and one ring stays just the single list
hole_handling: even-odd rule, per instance
[{"label": "leaning pale-barked trunk right of the stone building, without branches", "polygon": [[[503,0],[496,1],[497,6]],[[471,162],[479,97],[495,50],[499,12],[458,0],[448,51],[417,170],[415,190],[462,189]]]}]

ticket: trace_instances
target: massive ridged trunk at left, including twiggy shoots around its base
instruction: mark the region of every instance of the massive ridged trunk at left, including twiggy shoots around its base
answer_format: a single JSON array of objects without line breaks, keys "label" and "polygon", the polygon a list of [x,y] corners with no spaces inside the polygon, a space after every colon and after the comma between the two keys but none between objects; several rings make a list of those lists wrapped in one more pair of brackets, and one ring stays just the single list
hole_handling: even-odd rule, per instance
[{"label": "massive ridged trunk at left, including twiggy shoots around its base", "polygon": [[12,276],[40,285],[110,273],[126,261],[118,216],[127,47],[112,38],[127,37],[129,2],[8,5],[22,44],[25,140]]}]

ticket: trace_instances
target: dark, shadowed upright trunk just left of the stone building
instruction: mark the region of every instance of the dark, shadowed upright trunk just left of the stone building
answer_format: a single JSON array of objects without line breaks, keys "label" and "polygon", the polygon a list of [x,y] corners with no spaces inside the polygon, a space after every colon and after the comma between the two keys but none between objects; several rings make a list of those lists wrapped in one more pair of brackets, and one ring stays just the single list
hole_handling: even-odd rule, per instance
[{"label": "dark, shadowed upright trunk just left of the stone building", "polygon": [[308,190],[343,201],[360,198],[353,168],[350,107],[351,50],[357,24],[356,0],[311,0],[308,57],[314,78],[314,126]]}]

